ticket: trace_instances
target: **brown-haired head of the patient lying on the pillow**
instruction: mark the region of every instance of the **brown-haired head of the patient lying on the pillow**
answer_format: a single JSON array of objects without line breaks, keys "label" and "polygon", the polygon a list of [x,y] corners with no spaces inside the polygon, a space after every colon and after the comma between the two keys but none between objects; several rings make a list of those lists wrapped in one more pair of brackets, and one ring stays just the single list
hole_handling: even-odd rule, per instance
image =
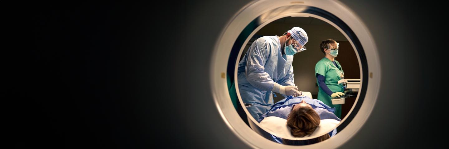
[{"label": "brown-haired head of the patient lying on the pillow", "polygon": [[320,116],[312,106],[304,100],[295,104],[287,117],[287,125],[291,128],[291,135],[303,137],[312,134],[320,125]]}]

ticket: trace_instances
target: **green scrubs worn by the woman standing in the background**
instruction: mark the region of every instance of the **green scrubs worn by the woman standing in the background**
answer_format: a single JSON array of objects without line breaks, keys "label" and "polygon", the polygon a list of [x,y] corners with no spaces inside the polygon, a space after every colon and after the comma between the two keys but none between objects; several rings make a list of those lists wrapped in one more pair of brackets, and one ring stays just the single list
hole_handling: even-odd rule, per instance
[{"label": "green scrubs worn by the woman standing in the background", "polygon": [[[326,57],[318,61],[315,65],[315,77],[317,77],[317,74],[324,76],[326,78],[324,82],[333,93],[344,92],[343,85],[338,84],[339,80],[344,79],[344,72],[337,60],[335,60],[335,63],[337,63],[338,68]],[[333,105],[330,98],[331,97],[327,95],[321,87],[318,88],[318,100],[321,100],[330,107],[335,107],[334,113],[341,119],[341,105]]]}]

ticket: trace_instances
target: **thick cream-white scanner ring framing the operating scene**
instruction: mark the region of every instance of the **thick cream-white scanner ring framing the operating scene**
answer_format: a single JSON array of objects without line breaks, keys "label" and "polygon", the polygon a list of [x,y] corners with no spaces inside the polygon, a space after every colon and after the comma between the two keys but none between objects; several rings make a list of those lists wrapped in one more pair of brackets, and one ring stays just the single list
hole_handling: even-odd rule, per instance
[{"label": "thick cream-white scanner ring framing the operating scene", "polygon": [[[243,103],[238,93],[238,85],[232,88],[231,84],[232,82],[238,84],[234,78],[237,78],[235,73],[236,66],[245,47],[244,44],[263,26],[284,17],[313,17],[325,21],[338,29],[356,51],[361,70],[361,86],[355,104],[348,115],[339,123],[337,129],[340,131],[337,135],[307,146],[323,145],[335,147],[341,145],[357,132],[363,125],[366,117],[369,116],[379,90],[380,76],[377,74],[380,73],[380,69],[374,42],[370,37],[370,33],[365,30],[363,22],[359,21],[357,16],[352,14],[343,4],[334,1],[327,1],[326,3],[312,1],[292,3],[287,0],[279,3],[258,1],[248,4],[247,7],[238,12],[229,22],[227,28],[223,30],[222,36],[217,41],[214,50],[214,59],[212,59],[211,65],[213,67],[211,82],[213,83],[212,86],[214,86],[212,92],[214,93],[216,106],[222,118],[228,124],[229,129],[239,136],[240,139],[247,142],[247,144],[257,148],[267,147],[266,145],[279,145],[269,140],[269,136],[267,136],[269,133],[266,130],[257,123],[252,123],[255,122],[254,118],[249,117],[248,121],[243,120],[248,111],[245,108],[243,108],[245,113],[236,111],[236,108],[242,108],[241,105]],[[233,94],[234,91],[236,94]],[[239,98],[238,104],[231,102],[235,95]],[[312,138],[293,139],[307,140]]]}]

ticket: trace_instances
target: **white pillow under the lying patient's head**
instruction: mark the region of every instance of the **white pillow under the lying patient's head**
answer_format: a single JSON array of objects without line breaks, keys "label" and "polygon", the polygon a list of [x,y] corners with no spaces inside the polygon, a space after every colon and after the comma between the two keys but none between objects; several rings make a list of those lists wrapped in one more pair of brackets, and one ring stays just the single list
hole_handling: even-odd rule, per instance
[{"label": "white pillow under the lying patient's head", "polygon": [[[309,136],[316,136],[318,134],[323,134],[325,132],[329,133],[332,132],[335,126],[340,123],[338,120],[335,119],[321,119],[320,125],[315,129],[315,131],[304,137]],[[267,129],[269,133],[272,133],[274,136],[280,137],[280,138],[288,138],[288,137],[295,137],[291,135],[291,128],[287,125],[287,119],[282,119],[280,117],[276,116],[269,116],[263,119],[260,123],[260,126],[262,128]]]}]

